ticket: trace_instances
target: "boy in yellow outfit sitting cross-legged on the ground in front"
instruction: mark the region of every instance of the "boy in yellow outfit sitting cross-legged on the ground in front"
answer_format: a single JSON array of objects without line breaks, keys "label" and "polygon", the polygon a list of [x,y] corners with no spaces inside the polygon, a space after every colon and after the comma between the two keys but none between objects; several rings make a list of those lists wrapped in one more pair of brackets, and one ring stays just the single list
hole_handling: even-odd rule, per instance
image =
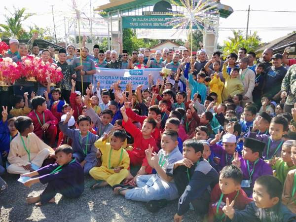
[{"label": "boy in yellow outfit sitting cross-legged on the ground in front", "polygon": [[95,142],[95,147],[102,153],[102,166],[93,167],[89,174],[98,182],[91,186],[92,189],[120,184],[127,178],[130,159],[127,151],[122,148],[126,139],[124,131],[116,130],[111,135],[110,143],[107,143],[108,135]]}]

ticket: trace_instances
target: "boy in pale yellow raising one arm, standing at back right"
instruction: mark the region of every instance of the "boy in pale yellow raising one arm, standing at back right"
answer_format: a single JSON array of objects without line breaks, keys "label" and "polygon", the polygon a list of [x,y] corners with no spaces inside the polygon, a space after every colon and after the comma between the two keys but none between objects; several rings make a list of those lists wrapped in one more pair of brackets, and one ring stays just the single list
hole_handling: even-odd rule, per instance
[{"label": "boy in pale yellow raising one arm, standing at back right", "polygon": [[230,75],[227,74],[227,65],[229,59],[227,59],[222,68],[223,78],[225,79],[224,90],[222,94],[222,101],[226,100],[229,97],[233,97],[235,94],[242,94],[244,92],[244,85],[240,78],[237,78],[239,69],[231,69]]}]

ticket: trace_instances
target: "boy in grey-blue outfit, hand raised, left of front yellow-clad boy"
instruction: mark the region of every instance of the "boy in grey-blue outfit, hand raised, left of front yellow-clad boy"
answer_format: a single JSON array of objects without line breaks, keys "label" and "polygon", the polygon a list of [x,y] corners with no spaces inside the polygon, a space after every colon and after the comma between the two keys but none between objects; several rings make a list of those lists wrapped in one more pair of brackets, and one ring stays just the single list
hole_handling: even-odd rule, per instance
[{"label": "boy in grey-blue outfit, hand raised, left of front yellow-clad boy", "polygon": [[74,111],[71,109],[67,113],[66,119],[59,123],[59,126],[64,135],[72,139],[73,156],[83,167],[84,174],[88,174],[90,169],[97,165],[97,149],[94,143],[99,137],[89,132],[91,120],[87,115],[79,115],[77,119],[78,129],[70,129],[68,122],[73,113]]}]

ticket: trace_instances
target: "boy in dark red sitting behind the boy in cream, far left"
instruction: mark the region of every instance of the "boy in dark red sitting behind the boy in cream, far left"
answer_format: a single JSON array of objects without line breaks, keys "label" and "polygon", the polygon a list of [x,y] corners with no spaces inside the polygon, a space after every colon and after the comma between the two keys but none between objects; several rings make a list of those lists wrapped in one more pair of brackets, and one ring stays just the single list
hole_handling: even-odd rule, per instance
[{"label": "boy in dark red sitting behind the boy in cream, far left", "polygon": [[48,139],[49,146],[55,147],[57,136],[58,119],[47,110],[46,101],[42,96],[36,96],[32,99],[33,111],[28,114],[34,125],[34,133],[41,140]]}]

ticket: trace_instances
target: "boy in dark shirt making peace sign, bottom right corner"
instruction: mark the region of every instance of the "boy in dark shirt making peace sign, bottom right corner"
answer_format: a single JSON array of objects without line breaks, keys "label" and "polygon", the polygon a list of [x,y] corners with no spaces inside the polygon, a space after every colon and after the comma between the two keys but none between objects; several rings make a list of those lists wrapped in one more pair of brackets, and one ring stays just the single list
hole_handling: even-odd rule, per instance
[{"label": "boy in dark shirt making peace sign, bottom right corner", "polygon": [[256,180],[254,201],[244,210],[235,210],[235,201],[229,203],[228,198],[222,210],[232,222],[294,222],[296,215],[281,202],[282,191],[282,184],[277,178],[265,175]]}]

